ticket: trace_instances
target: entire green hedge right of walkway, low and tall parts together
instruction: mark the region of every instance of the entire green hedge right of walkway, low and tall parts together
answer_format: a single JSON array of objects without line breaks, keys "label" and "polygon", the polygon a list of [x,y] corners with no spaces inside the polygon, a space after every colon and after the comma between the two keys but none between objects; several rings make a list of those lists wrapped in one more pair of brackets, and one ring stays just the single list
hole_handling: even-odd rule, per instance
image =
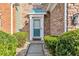
[{"label": "entire green hedge right of walkway, low and tall parts together", "polygon": [[51,50],[52,55],[79,55],[79,29],[65,32],[58,37],[53,37],[51,35],[45,36],[44,40],[49,51]]}]

